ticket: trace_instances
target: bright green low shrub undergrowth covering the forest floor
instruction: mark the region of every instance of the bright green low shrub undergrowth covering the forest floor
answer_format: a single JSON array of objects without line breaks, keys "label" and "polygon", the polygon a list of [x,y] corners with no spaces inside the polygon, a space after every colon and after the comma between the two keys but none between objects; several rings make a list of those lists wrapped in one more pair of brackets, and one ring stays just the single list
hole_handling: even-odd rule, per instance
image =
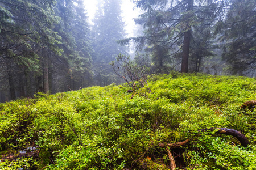
[{"label": "bright green low shrub undergrowth covering the forest floor", "polygon": [[[256,169],[255,110],[239,109],[256,99],[256,79],[171,73],[150,76],[148,87],[132,99],[126,84],[112,84],[0,104],[2,159],[8,150],[40,150],[0,169],[168,169],[159,143],[186,139],[171,149],[178,169]],[[251,145],[197,133],[210,127],[239,130]]]}]

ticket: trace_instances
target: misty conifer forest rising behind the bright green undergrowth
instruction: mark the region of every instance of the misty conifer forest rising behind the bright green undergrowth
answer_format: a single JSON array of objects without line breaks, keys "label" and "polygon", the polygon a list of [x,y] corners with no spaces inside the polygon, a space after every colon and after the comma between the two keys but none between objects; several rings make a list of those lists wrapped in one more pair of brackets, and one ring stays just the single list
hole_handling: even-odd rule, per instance
[{"label": "misty conifer forest rising behind the bright green undergrowth", "polygon": [[88,2],[0,1],[1,102],[124,83],[115,73],[124,74],[123,63],[109,63],[130,51],[129,62],[148,75],[256,75],[254,0],[133,1],[141,10],[134,37],[126,35],[122,1],[99,0],[93,23]]}]

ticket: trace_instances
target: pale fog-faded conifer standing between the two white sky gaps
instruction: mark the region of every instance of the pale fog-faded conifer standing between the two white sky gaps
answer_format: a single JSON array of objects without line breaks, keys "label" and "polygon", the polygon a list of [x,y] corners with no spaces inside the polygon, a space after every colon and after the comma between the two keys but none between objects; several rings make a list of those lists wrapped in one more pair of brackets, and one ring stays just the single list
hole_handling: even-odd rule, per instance
[{"label": "pale fog-faded conifer standing between the two white sky gaps", "polygon": [[125,38],[124,22],[121,16],[121,1],[103,0],[98,2],[98,11],[93,25],[93,71],[94,80],[99,86],[115,82],[115,74],[109,65],[119,53],[127,49],[117,41]]}]

